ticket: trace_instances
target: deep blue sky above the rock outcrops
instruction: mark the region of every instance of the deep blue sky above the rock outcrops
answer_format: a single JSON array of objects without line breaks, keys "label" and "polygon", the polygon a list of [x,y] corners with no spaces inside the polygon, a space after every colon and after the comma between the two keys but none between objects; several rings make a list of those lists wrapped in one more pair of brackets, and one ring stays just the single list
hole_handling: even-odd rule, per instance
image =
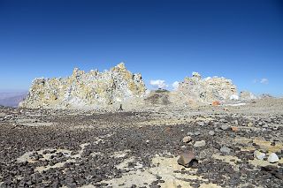
[{"label": "deep blue sky above the rock outcrops", "polygon": [[283,1],[0,0],[0,90],[121,61],[147,86],[198,71],[283,95]]}]

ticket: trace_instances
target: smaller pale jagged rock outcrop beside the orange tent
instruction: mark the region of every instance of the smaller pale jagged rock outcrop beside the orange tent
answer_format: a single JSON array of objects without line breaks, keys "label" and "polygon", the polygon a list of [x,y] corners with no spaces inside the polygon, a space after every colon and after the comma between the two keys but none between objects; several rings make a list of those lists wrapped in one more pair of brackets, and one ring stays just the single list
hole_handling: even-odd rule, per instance
[{"label": "smaller pale jagged rock outcrop beside the orange tent", "polygon": [[176,93],[184,102],[224,102],[230,100],[232,95],[237,95],[237,88],[230,79],[218,77],[202,79],[198,72],[193,72],[191,78],[185,78],[179,84]]}]

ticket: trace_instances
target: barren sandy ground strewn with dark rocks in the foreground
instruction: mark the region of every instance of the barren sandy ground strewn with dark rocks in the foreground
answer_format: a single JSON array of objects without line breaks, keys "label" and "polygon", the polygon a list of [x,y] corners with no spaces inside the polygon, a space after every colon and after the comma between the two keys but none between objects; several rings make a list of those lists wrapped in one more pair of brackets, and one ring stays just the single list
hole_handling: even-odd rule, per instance
[{"label": "barren sandy ground strewn with dark rocks in the foreground", "polygon": [[0,187],[282,187],[282,156],[282,99],[117,112],[0,108]]}]

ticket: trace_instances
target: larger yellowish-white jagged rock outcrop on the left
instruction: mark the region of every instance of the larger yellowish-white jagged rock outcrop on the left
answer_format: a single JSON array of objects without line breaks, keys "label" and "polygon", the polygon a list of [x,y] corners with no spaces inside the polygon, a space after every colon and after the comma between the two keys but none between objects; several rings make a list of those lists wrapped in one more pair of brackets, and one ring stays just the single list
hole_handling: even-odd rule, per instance
[{"label": "larger yellowish-white jagged rock outcrop on the left", "polygon": [[22,108],[100,107],[143,97],[146,92],[141,74],[133,74],[121,63],[110,71],[73,70],[64,79],[34,79]]}]

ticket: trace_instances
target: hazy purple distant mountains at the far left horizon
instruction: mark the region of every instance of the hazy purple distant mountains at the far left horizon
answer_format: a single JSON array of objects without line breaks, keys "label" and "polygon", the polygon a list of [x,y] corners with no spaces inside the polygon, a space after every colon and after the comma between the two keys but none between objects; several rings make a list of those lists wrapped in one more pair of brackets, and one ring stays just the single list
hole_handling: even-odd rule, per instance
[{"label": "hazy purple distant mountains at the far left horizon", "polygon": [[0,92],[0,105],[18,107],[19,102],[27,96],[27,92]]}]

